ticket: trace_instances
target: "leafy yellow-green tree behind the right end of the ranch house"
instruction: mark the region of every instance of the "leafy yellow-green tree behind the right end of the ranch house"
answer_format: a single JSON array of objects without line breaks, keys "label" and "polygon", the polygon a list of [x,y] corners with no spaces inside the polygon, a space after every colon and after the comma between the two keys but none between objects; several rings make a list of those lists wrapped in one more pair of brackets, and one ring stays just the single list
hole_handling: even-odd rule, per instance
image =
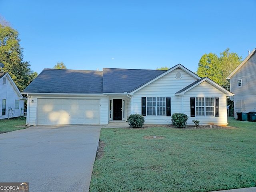
[{"label": "leafy yellow-green tree behind the right end of the ranch house", "polygon": [[241,62],[242,57],[230,52],[229,48],[221,52],[220,57],[213,53],[204,54],[198,63],[197,74],[200,77],[209,77],[230,90],[230,82],[226,78]]}]

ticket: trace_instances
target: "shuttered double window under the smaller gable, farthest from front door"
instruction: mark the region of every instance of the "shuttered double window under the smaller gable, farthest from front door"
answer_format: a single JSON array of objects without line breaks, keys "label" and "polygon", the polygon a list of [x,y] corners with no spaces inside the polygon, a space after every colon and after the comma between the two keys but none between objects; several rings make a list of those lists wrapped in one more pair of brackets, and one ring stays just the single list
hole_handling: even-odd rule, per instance
[{"label": "shuttered double window under the smaller gable, farthest from front door", "polygon": [[190,98],[190,116],[219,116],[219,98]]}]

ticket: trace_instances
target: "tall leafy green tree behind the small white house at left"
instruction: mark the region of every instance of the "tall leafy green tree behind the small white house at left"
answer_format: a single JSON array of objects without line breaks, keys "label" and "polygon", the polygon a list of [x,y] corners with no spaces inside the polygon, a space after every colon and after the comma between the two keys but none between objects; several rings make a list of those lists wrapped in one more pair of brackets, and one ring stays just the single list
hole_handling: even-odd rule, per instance
[{"label": "tall leafy green tree behind the small white house at left", "polygon": [[29,62],[23,61],[18,31],[0,15],[0,62],[22,92],[38,75],[30,69]]}]

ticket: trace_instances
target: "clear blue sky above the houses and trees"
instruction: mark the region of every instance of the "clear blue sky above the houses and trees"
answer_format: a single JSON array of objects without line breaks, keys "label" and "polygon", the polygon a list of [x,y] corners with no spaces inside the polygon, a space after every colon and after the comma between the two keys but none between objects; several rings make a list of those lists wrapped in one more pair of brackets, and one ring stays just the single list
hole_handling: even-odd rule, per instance
[{"label": "clear blue sky above the houses and trees", "polygon": [[42,72],[156,69],[196,72],[204,54],[256,48],[256,0],[0,0],[23,61]]}]

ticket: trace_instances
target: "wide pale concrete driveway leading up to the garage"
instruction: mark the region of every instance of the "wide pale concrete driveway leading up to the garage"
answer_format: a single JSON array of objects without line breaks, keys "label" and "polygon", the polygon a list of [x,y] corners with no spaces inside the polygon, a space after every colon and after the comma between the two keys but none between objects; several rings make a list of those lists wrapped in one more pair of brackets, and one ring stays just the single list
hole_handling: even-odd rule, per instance
[{"label": "wide pale concrete driveway leading up to the garage", "polygon": [[88,192],[100,125],[32,126],[0,134],[0,182],[30,192]]}]

